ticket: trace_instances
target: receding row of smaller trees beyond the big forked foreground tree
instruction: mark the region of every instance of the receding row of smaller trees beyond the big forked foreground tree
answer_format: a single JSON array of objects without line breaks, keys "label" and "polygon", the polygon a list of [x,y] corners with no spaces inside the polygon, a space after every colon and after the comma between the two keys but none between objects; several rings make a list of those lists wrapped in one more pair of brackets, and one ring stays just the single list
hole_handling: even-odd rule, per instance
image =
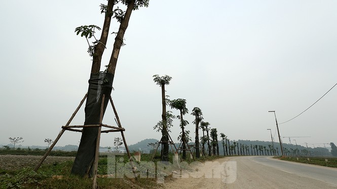
[{"label": "receding row of smaller trees beyond the big forked foreground tree", "polygon": [[[200,158],[201,155],[217,155],[219,156],[219,143],[218,143],[218,134],[216,128],[210,128],[210,123],[203,121],[203,113],[200,108],[194,107],[192,110],[192,115],[195,116],[195,120],[193,123],[195,124],[195,141],[193,145],[189,145],[192,142],[192,138],[190,137],[190,131],[185,130],[185,126],[189,124],[187,120],[183,119],[183,116],[189,113],[188,108],[186,108],[186,100],[185,99],[174,99],[169,100],[165,95],[165,85],[170,83],[172,77],[165,75],[159,76],[154,75],[154,81],[157,85],[161,86],[162,89],[162,120],[159,121],[155,126],[158,132],[162,133],[162,138],[160,144],[162,145],[161,152],[161,160],[168,161],[168,152],[169,152],[169,144],[172,141],[170,138],[169,132],[171,127],[173,126],[173,119],[177,118],[180,121],[181,132],[178,136],[178,140],[181,144],[182,151],[182,159],[186,159],[186,152],[190,150],[190,148],[195,149],[195,155],[197,158]],[[171,109],[176,109],[179,111],[178,116],[174,116],[172,111],[167,111],[166,106],[171,107]],[[199,138],[199,130],[202,129],[202,136]],[[279,155],[278,149],[272,148],[272,145],[269,145],[267,149],[266,146],[258,146],[258,145],[242,145],[237,143],[236,141],[230,144],[230,140],[223,133],[220,133],[222,138],[222,147],[223,147],[223,155],[231,156],[231,155]],[[200,139],[200,140],[199,140]],[[191,143],[190,143],[191,144]]]}]

